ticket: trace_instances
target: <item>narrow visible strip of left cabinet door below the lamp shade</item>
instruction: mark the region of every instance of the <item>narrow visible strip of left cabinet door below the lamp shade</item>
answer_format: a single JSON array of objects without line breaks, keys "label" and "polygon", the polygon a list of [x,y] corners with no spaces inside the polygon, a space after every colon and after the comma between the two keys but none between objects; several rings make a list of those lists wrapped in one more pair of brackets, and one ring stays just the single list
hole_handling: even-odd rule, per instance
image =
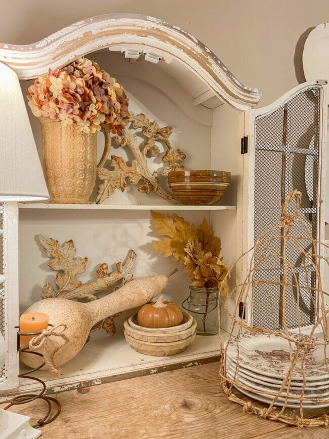
[{"label": "narrow visible strip of left cabinet door below the lamp shade", "polygon": [[18,205],[0,203],[0,330],[7,348],[6,363],[0,371],[0,393],[18,387]]}]

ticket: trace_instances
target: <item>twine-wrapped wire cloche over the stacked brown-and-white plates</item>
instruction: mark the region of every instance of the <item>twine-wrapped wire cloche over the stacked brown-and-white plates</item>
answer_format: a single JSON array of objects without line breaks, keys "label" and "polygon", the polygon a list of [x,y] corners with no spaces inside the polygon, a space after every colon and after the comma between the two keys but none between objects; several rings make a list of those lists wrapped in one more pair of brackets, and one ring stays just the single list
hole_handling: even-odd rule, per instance
[{"label": "twine-wrapped wire cloche over the stacked brown-and-white plates", "polygon": [[[323,263],[325,267],[328,266],[328,261],[324,259],[322,256],[319,255],[319,249],[321,247],[329,248],[325,244],[316,241],[311,232],[309,231],[306,223],[302,221],[301,219],[298,219],[298,211],[301,204],[301,192],[298,190],[294,190],[289,194],[289,196],[286,198],[285,203],[281,209],[281,219],[280,224],[276,227],[273,227],[272,229],[268,230],[267,232],[263,233],[258,240],[256,241],[256,244],[253,248],[248,250],[247,252],[243,253],[237,261],[232,265],[230,270],[227,273],[227,278],[230,277],[230,274],[232,270],[236,270],[241,264],[245,263],[245,258],[247,258],[250,262],[248,263],[248,274],[245,276],[245,278],[242,280],[242,283],[239,285],[236,285],[232,290],[229,291],[229,294],[227,296],[227,299],[225,301],[224,310],[228,314],[228,316],[231,319],[231,326],[229,331],[229,336],[227,343],[225,344],[222,340],[221,335],[219,335],[220,343],[221,343],[221,361],[220,361],[220,378],[221,378],[221,385],[223,387],[223,390],[229,400],[240,404],[243,407],[243,411],[245,413],[249,414],[255,414],[257,416],[260,416],[262,418],[267,418],[273,421],[281,421],[286,424],[294,425],[297,427],[315,427],[315,426],[328,426],[329,425],[329,407],[325,409],[303,409],[302,402],[304,403],[310,403],[310,402],[316,402],[316,403],[327,403],[329,402],[329,396],[326,396],[324,398],[311,398],[307,397],[307,394],[304,394],[305,386],[306,386],[306,375],[304,371],[304,366],[306,365],[306,355],[310,352],[310,350],[314,348],[318,348],[318,346],[322,346],[321,349],[326,353],[326,347],[328,345],[328,332],[327,332],[327,313],[329,310],[325,309],[325,301],[324,297],[328,294],[325,293],[322,289],[322,281],[321,281],[321,275],[320,275],[320,269],[319,269],[319,262],[320,260],[323,260]],[[296,211],[295,214],[288,213],[288,205],[293,200],[293,198],[296,197]],[[291,235],[290,232],[292,230],[292,227],[294,224],[298,224],[303,226],[303,229],[305,231],[305,236],[294,236]],[[280,254],[276,254],[272,251],[272,244],[274,242],[277,243],[279,240],[281,252]],[[305,243],[305,245],[301,245],[301,243]],[[294,245],[297,246],[297,249],[299,250],[301,256],[302,256],[302,267],[303,270],[305,270],[306,275],[306,289],[304,286],[304,291],[306,290],[310,296],[310,302],[313,303],[314,307],[314,325],[311,328],[311,332],[308,335],[302,334],[302,327],[300,325],[300,286],[298,283],[298,274],[295,272],[296,267],[293,266],[293,264],[288,260],[286,257],[286,247],[287,245]],[[304,249],[310,250],[306,251]],[[261,250],[261,251],[260,251]],[[258,251],[256,258],[256,252]],[[260,256],[259,256],[260,255]],[[280,262],[280,281],[273,281],[271,279],[267,280],[257,280],[255,278],[255,273],[257,268],[260,266],[260,264],[264,261],[267,262],[272,258],[278,258],[278,261]],[[312,286],[314,284],[311,284],[309,281],[309,274],[307,267],[312,267],[312,271],[315,273],[316,276],[316,282],[315,287]],[[299,267],[300,269],[300,267]],[[296,270],[297,271],[297,270]],[[290,276],[293,276],[293,281],[289,281],[288,272],[290,273]],[[281,292],[281,316],[282,316],[282,324],[280,328],[277,329],[265,329],[261,327],[253,327],[248,326],[246,321],[243,319],[240,319],[237,317],[238,315],[238,308],[240,302],[246,306],[247,303],[247,297],[249,296],[248,306],[251,309],[253,309],[253,300],[255,297],[255,288],[261,287],[266,294],[269,295],[269,291],[266,289],[266,285],[277,285],[278,288],[280,288]],[[295,330],[295,334],[292,334],[292,332],[289,331],[286,323],[286,292],[289,287],[295,288],[295,291],[297,292],[297,320],[299,322],[299,325],[297,327],[297,331]],[[316,297],[316,299],[315,299]],[[270,297],[269,297],[270,300]],[[233,306],[232,306],[233,303]],[[274,313],[277,314],[277,309],[273,309],[273,306],[271,304],[271,311],[272,311],[272,318],[273,322],[274,319]],[[251,314],[252,315],[252,314]],[[218,306],[218,316],[219,316],[219,323],[221,324],[221,317],[220,317],[220,309]],[[316,329],[321,329],[323,333],[323,340],[320,338],[315,337],[313,334],[316,331]],[[254,388],[249,387],[248,385],[244,385],[241,383],[241,381],[237,380],[238,375],[238,366],[239,366],[239,336],[243,333],[248,331],[252,334],[265,334],[265,335],[273,335],[275,337],[280,337],[282,340],[286,340],[289,346],[289,351],[287,351],[290,355],[290,367],[287,371],[286,375],[282,379],[282,383],[279,384],[279,390],[272,389],[261,391],[261,390],[255,390]],[[227,364],[227,349],[229,342],[232,340],[232,337],[237,336],[236,338],[236,348],[237,348],[237,357],[236,357],[236,366],[235,366],[235,372],[231,372],[231,378],[228,377],[227,371],[228,371],[228,364]],[[270,341],[269,341],[270,343]],[[296,367],[297,366],[297,367]],[[324,369],[326,370],[326,373],[329,374],[329,358],[326,358],[326,355],[324,354]],[[290,390],[292,384],[292,376],[295,373],[296,377],[296,370],[301,375],[301,380],[303,385],[301,387],[301,392],[299,394],[296,394],[296,392],[292,392]],[[322,370],[322,369],[321,369]],[[230,366],[230,371],[232,371],[232,364]],[[327,381],[328,382],[328,381]],[[257,393],[258,395],[271,395],[273,397],[272,403],[256,403],[255,400],[253,400],[250,397],[247,396],[238,396],[241,395],[240,392],[237,390],[234,390],[233,393],[233,386],[238,385],[241,389],[244,389],[251,393]],[[329,391],[329,384],[328,391]],[[290,401],[294,401],[299,404],[299,409],[291,409],[287,408],[287,398],[289,397]],[[283,401],[282,407],[277,407],[274,404],[278,401],[278,398],[280,398],[280,401]],[[283,399],[282,399],[283,398]],[[264,407],[266,405],[266,407]],[[323,414],[323,412],[326,412]],[[319,414],[321,413],[321,414]],[[328,414],[328,415],[327,415]]]}]

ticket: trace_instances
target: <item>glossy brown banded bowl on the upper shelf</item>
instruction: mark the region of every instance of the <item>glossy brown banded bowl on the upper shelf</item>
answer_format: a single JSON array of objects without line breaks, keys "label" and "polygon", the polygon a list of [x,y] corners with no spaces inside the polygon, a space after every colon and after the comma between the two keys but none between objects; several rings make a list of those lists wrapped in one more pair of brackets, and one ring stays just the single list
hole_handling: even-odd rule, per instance
[{"label": "glossy brown banded bowl on the upper shelf", "polygon": [[168,174],[174,197],[184,205],[209,206],[218,203],[231,181],[226,171],[180,170]]}]

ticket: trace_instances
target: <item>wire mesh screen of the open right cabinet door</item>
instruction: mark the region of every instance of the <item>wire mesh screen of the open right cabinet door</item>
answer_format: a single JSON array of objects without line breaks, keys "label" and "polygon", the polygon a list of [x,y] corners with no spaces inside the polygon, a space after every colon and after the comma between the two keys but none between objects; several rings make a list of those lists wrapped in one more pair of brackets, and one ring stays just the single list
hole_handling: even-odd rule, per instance
[{"label": "wire mesh screen of the open right cabinet door", "polygon": [[[313,238],[318,236],[317,199],[319,167],[319,119],[321,87],[309,87],[299,92],[271,114],[256,118],[255,126],[255,189],[254,189],[254,242],[266,230],[279,224],[278,208],[287,195],[294,189],[302,193],[299,218],[304,220],[312,231]],[[295,206],[290,206],[290,212]],[[273,232],[277,234],[277,231]],[[292,234],[304,236],[300,224],[294,224]],[[274,236],[274,234],[273,234]],[[305,241],[298,244],[308,252]],[[275,240],[270,253],[282,256],[280,241]],[[260,246],[255,258],[262,255],[265,246]],[[297,327],[298,314],[300,325],[314,322],[314,301],[307,285],[315,288],[315,275],[312,266],[302,265],[302,255],[297,246],[288,245],[285,256],[297,273],[300,286],[297,292],[293,273],[289,274],[292,286],[285,292],[285,320],[287,327]],[[253,324],[268,329],[282,327],[282,291],[279,285],[283,269],[280,258],[265,259],[255,271],[255,280],[267,280],[265,288],[253,290]],[[295,280],[296,281],[296,280]],[[273,283],[271,283],[273,282]],[[264,286],[264,284],[262,284]],[[297,313],[299,308],[299,313]]]}]

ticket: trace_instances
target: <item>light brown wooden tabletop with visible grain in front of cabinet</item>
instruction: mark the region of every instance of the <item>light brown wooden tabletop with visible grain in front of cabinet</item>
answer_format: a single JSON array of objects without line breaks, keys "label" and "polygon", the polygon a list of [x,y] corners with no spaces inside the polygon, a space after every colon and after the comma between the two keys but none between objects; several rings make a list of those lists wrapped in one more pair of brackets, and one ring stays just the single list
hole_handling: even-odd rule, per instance
[{"label": "light brown wooden tabletop with visible grain in front of cabinet", "polygon": [[[245,414],[223,393],[218,370],[211,363],[59,393],[62,413],[42,428],[42,438],[329,437],[329,427],[298,429]],[[43,409],[39,401],[14,411],[36,420]]]}]

